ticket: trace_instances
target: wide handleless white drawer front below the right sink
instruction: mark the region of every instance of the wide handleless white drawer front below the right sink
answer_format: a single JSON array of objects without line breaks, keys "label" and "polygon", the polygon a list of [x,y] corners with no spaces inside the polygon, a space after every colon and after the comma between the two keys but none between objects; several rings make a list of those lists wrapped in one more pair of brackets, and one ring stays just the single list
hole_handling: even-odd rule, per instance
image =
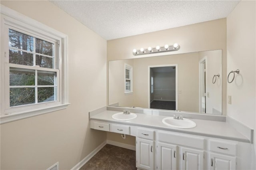
[{"label": "wide handleless white drawer front below the right sink", "polygon": [[169,132],[159,132],[158,140],[161,142],[189,146],[192,148],[204,149],[204,138],[173,134]]}]

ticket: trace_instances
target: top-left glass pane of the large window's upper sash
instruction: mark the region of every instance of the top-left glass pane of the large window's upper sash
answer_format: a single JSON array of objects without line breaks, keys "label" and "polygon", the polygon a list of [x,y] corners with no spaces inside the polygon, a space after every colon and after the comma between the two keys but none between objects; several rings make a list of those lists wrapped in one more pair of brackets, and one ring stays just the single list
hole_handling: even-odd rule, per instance
[{"label": "top-left glass pane of the large window's upper sash", "polygon": [[9,47],[33,51],[33,37],[9,29]]}]

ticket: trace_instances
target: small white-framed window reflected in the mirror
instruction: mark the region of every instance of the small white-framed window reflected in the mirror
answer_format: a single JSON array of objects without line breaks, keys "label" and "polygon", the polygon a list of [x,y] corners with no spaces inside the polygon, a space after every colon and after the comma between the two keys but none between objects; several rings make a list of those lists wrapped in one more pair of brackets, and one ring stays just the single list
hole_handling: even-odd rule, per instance
[{"label": "small white-framed window reflected in the mirror", "polygon": [[124,93],[132,93],[132,66],[124,65]]}]

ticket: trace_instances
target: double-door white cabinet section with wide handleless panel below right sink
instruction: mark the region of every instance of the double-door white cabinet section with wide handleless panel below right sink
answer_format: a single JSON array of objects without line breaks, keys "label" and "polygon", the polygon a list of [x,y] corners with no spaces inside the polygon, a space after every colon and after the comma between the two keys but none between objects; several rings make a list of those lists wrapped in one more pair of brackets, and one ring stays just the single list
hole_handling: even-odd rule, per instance
[{"label": "double-door white cabinet section with wide handleless panel below right sink", "polygon": [[158,169],[204,169],[204,138],[159,131],[157,140]]}]

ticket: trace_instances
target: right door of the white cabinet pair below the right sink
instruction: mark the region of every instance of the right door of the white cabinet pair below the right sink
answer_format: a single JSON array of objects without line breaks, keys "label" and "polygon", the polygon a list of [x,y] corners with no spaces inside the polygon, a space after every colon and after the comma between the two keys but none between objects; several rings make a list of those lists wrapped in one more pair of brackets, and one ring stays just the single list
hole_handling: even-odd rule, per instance
[{"label": "right door of the white cabinet pair below the right sink", "polygon": [[181,147],[181,169],[203,170],[204,151]]}]

